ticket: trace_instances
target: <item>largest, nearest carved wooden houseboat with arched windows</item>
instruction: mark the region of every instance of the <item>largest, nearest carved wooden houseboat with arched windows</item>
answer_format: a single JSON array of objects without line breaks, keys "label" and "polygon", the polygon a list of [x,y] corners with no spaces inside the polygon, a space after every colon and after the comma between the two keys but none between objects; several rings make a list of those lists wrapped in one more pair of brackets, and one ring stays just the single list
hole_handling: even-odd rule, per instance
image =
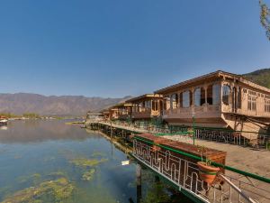
[{"label": "largest, nearest carved wooden houseboat with arched windows", "polygon": [[241,75],[218,70],[159,89],[162,117],[169,125],[266,132],[270,124],[270,89]]}]

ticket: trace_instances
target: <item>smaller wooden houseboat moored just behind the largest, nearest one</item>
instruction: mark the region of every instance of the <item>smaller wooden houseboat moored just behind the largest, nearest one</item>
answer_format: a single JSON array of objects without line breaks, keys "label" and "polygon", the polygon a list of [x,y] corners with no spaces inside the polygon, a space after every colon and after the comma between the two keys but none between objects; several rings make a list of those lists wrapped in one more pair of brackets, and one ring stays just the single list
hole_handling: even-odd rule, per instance
[{"label": "smaller wooden houseboat moored just behind the largest, nearest one", "polygon": [[150,120],[162,115],[163,96],[159,94],[146,94],[131,98],[126,102],[132,105],[131,118],[136,120]]}]

